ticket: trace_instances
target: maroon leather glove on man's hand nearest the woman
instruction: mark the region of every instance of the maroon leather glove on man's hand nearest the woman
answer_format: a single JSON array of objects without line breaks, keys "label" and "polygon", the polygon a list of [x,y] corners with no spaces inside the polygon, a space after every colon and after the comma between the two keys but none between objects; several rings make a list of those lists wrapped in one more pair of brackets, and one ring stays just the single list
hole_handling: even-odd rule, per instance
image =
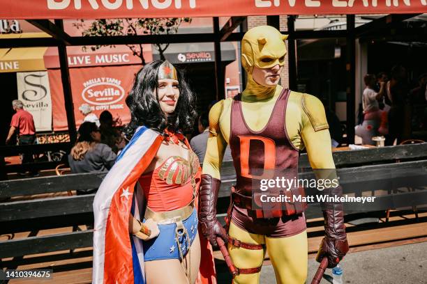
[{"label": "maroon leather glove on man's hand nearest the woman", "polygon": [[216,237],[223,239],[225,244],[228,242],[227,232],[216,219],[216,200],[218,200],[220,184],[221,181],[212,178],[211,175],[202,175],[202,182],[200,183],[200,228],[213,248],[218,248]]}]

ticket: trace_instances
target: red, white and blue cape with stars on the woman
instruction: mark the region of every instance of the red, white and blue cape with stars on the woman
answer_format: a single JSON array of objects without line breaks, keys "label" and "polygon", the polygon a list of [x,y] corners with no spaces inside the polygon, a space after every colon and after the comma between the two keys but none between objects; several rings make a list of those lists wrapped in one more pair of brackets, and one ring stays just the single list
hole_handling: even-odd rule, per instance
[{"label": "red, white and blue cape with stars on the woman", "polygon": [[[100,184],[93,201],[92,283],[145,283],[142,241],[129,238],[127,218],[135,182],[156,155],[162,140],[163,137],[152,129],[137,129]],[[135,190],[133,210],[135,218],[140,219],[140,212],[144,212],[140,208],[144,196],[142,190]]]}]

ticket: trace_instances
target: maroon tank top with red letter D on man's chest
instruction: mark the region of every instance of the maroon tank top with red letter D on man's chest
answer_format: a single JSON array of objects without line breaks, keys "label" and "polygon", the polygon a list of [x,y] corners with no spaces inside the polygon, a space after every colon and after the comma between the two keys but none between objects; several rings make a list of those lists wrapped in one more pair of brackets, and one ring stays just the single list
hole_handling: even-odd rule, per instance
[{"label": "maroon tank top with red letter D on man's chest", "polygon": [[299,151],[292,146],[285,129],[287,99],[290,91],[280,93],[269,122],[259,132],[246,124],[241,109],[241,95],[232,102],[230,148],[237,173],[239,194],[251,195],[253,179],[265,170],[298,168]]}]

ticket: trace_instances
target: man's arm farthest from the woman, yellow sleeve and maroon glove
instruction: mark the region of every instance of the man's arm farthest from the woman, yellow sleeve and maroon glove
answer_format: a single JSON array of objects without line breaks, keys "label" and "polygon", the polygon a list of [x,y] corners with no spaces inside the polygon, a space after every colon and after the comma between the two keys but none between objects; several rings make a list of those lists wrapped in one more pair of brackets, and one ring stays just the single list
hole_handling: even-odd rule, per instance
[{"label": "man's arm farthest from the woman, yellow sleeve and maroon glove", "polygon": [[[329,135],[327,119],[322,102],[311,95],[304,95],[302,99],[303,129],[301,136],[306,145],[308,161],[315,170],[317,179],[336,178],[334,159],[331,151],[331,137]],[[319,171],[316,171],[319,170]],[[341,187],[324,189],[322,194],[341,196]],[[324,216],[325,237],[322,239],[317,261],[327,257],[329,268],[335,267],[348,251],[347,235],[344,226],[344,212],[342,203],[322,203]]]}]

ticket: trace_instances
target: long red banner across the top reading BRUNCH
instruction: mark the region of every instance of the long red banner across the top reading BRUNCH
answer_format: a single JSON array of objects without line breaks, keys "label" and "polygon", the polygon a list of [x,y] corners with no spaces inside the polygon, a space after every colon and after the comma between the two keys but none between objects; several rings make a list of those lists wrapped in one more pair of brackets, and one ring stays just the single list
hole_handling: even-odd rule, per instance
[{"label": "long red banner across the top reading BRUNCH", "polygon": [[1,2],[1,19],[427,12],[427,0],[2,0]]}]

